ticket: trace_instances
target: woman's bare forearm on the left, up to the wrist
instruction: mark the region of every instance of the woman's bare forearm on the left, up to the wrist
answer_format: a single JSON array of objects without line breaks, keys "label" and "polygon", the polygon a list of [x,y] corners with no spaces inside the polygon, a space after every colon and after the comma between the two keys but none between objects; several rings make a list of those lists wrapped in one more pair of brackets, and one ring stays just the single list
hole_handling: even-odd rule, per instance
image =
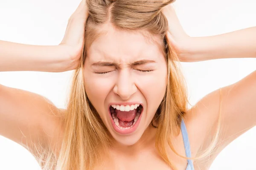
[{"label": "woman's bare forearm on the left, up to the wrist", "polygon": [[25,45],[0,41],[0,71],[65,71],[67,54],[59,45]]}]

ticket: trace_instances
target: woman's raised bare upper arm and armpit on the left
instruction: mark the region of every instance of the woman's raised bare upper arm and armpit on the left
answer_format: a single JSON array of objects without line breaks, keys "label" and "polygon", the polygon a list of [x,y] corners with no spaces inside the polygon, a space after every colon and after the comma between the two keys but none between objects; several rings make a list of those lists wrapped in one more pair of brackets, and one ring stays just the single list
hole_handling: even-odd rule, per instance
[{"label": "woman's raised bare upper arm and armpit on the left", "polygon": [[63,131],[63,114],[44,96],[0,85],[0,135],[33,155],[55,145]]}]

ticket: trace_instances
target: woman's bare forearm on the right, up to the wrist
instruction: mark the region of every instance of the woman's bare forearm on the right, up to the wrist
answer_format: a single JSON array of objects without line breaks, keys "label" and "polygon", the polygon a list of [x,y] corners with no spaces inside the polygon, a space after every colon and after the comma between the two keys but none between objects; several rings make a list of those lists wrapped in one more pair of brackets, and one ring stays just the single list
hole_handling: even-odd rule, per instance
[{"label": "woman's bare forearm on the right, up to the wrist", "polygon": [[256,27],[210,37],[192,37],[187,53],[197,61],[256,57]]}]

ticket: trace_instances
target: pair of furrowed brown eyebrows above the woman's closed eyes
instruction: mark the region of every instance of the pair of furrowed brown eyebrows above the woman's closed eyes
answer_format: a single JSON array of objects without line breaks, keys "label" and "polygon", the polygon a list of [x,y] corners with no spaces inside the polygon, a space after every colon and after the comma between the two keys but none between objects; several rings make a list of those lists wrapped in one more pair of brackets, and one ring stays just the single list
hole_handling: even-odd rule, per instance
[{"label": "pair of furrowed brown eyebrows above the woman's closed eyes", "polygon": [[[148,63],[155,63],[155,61],[150,59],[142,59],[129,64],[129,66],[134,67],[137,65],[144,65]],[[120,68],[120,65],[115,62],[94,62],[92,66],[115,66],[116,68]]]}]

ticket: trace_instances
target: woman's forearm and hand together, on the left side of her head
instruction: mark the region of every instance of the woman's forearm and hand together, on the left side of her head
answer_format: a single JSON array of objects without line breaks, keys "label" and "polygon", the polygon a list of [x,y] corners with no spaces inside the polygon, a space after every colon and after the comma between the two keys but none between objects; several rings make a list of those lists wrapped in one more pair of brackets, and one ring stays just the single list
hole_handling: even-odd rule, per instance
[{"label": "woman's forearm and hand together, on the left side of her head", "polygon": [[71,15],[59,45],[27,45],[0,41],[0,71],[63,72],[76,69],[84,47],[88,15],[86,0],[82,0]]}]

